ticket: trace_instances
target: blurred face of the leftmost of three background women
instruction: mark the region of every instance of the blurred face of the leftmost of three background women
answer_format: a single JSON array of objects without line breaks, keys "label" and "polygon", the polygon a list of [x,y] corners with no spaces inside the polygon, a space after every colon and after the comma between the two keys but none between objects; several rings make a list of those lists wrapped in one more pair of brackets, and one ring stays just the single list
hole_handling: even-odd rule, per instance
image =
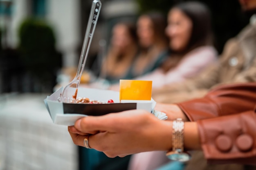
[{"label": "blurred face of the leftmost of three background women", "polygon": [[132,38],[128,33],[128,28],[123,24],[117,24],[112,31],[112,46],[122,51],[132,44]]}]

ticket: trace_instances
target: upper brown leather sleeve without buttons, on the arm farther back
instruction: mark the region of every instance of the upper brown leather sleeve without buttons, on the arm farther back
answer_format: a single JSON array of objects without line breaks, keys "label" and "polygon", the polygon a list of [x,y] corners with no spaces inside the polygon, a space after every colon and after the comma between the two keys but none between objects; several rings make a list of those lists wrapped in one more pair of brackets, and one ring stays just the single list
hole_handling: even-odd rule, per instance
[{"label": "upper brown leather sleeve without buttons, on the arm farther back", "polygon": [[252,111],[256,105],[256,83],[221,85],[203,98],[177,105],[190,121]]}]

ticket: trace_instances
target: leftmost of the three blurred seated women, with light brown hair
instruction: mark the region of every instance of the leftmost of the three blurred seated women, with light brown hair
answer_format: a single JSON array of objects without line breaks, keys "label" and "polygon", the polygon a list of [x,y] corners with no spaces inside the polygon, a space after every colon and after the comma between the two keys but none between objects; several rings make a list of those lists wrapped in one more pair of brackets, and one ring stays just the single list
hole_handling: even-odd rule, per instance
[{"label": "leftmost of the three blurred seated women, with light brown hair", "polygon": [[103,60],[101,76],[110,84],[126,79],[137,53],[136,27],[130,23],[117,23],[112,29],[111,44]]}]

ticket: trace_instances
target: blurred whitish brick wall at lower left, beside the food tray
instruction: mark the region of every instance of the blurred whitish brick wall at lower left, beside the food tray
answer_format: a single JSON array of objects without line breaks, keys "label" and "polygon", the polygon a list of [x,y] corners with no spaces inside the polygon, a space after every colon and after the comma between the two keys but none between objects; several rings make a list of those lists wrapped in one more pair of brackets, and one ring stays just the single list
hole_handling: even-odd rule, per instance
[{"label": "blurred whitish brick wall at lower left, beside the food tray", "polygon": [[45,97],[21,94],[0,100],[0,170],[78,169],[77,147],[67,126],[52,123]]}]

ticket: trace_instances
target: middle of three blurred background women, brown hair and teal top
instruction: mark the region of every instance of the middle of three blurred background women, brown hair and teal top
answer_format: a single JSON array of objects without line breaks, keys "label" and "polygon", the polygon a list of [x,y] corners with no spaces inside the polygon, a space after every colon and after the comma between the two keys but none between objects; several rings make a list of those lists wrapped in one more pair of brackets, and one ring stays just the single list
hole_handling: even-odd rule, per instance
[{"label": "middle of three blurred background women, brown hair and teal top", "polygon": [[166,18],[161,13],[150,12],[139,16],[137,20],[139,55],[128,72],[128,78],[144,75],[163,63],[168,49],[165,28]]}]

